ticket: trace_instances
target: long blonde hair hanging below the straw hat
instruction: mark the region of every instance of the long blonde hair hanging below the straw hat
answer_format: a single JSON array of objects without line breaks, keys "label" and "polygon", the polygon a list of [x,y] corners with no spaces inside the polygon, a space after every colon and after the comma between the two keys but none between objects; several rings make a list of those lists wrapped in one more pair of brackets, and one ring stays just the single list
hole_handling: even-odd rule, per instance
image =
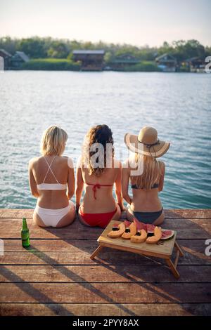
[{"label": "long blonde hair hanging below the straw hat", "polygon": [[149,190],[155,183],[159,183],[162,174],[162,163],[157,159],[136,153],[134,156],[136,164],[143,161],[143,173],[141,176],[131,176],[132,185],[136,185],[140,189]]}]

